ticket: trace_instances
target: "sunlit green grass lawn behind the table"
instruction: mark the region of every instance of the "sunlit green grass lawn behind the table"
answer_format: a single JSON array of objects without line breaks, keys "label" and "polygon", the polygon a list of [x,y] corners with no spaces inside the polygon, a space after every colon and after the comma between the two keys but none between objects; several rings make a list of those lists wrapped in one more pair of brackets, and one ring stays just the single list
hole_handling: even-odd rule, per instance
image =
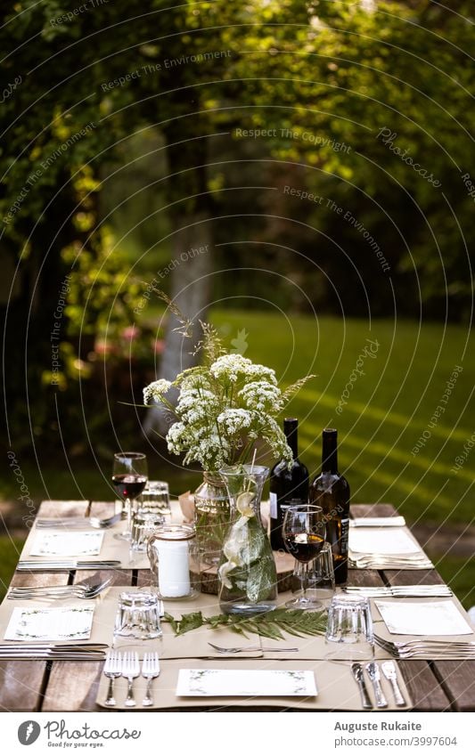
[{"label": "sunlit green grass lawn behind the table", "polygon": [[[320,464],[322,428],[337,427],[340,471],[348,477],[353,502],[389,501],[409,524],[473,521],[475,451],[457,473],[451,469],[474,432],[475,352],[465,327],[373,321],[370,330],[367,321],[249,311],[214,311],[212,320],[228,343],[245,329],[245,356],[273,367],[284,383],[316,373],[289,408],[300,419],[300,456],[312,473]],[[365,345],[370,347],[367,339],[373,341],[374,357],[367,350],[358,364]],[[457,365],[463,371],[446,402],[441,402]],[[357,375],[351,384],[348,403],[340,405],[339,414],[336,409],[356,366],[364,375]],[[429,427],[438,406],[444,411]],[[412,455],[418,440],[429,432],[419,453]],[[101,466],[102,472],[78,463],[71,475],[52,461],[51,467],[42,467],[40,476],[25,461],[22,472],[38,501],[111,499],[110,459],[103,457]],[[181,469],[176,460],[170,465],[157,457],[151,459],[151,468],[152,476],[170,481],[174,494],[193,489],[200,481],[199,473]],[[18,495],[8,472],[0,481],[0,495],[4,500]],[[3,541],[0,579],[8,581],[15,554],[12,544]],[[454,580],[470,606],[475,603],[470,597],[475,568],[465,561],[445,558],[438,568],[447,581]]]}]

